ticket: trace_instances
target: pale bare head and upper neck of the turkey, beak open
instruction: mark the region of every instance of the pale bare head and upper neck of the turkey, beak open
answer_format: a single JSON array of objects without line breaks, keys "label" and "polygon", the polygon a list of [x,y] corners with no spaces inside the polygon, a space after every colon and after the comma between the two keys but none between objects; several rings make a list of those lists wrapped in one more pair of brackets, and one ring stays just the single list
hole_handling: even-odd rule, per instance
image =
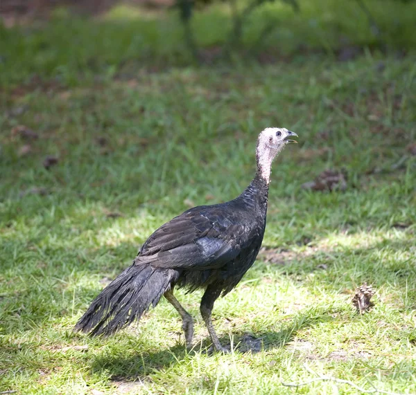
[{"label": "pale bare head and upper neck of the turkey, beak open", "polygon": [[270,181],[270,171],[273,159],[289,143],[297,143],[296,140],[289,140],[288,137],[296,136],[293,131],[280,127],[266,127],[257,139],[257,169],[267,183]]}]

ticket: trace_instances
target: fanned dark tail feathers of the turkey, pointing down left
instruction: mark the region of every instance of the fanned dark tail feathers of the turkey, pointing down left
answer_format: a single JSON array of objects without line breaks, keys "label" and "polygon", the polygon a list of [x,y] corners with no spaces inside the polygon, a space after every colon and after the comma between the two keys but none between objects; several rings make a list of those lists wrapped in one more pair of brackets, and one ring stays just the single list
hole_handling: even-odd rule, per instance
[{"label": "fanned dark tail feathers of the turkey, pointing down left", "polygon": [[103,289],[74,330],[107,336],[139,320],[168,291],[175,274],[171,269],[133,264]]}]

